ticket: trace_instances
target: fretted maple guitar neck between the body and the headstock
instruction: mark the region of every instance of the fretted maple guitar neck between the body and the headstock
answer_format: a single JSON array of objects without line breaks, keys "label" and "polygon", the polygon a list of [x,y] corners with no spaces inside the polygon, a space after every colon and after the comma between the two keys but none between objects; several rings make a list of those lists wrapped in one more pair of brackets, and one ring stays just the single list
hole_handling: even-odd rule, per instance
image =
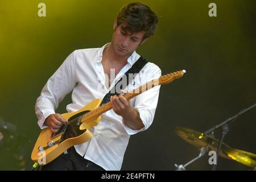
[{"label": "fretted maple guitar neck between the body and the headstock", "polygon": [[[158,79],[148,81],[146,84],[139,86],[138,88],[134,89],[132,92],[126,93],[123,97],[125,97],[127,100],[131,100],[131,98],[138,96],[139,94],[147,91],[148,89],[153,88],[156,85],[159,85]],[[111,104],[111,102],[108,102],[108,103],[98,107],[97,109],[94,109],[94,110],[90,111],[89,113],[84,114],[81,118],[81,122],[85,122],[89,118],[97,118],[101,114],[106,113],[106,111],[108,111],[110,109],[112,109],[112,104]]]}]

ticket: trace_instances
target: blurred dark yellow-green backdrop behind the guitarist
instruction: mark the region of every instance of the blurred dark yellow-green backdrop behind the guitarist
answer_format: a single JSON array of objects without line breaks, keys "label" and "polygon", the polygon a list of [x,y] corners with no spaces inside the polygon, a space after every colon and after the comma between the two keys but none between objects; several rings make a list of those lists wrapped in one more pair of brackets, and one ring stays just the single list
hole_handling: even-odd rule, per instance
[{"label": "blurred dark yellow-green backdrop behind the guitarist", "polygon": [[[40,2],[46,4],[46,17],[38,16]],[[40,133],[34,106],[48,78],[75,49],[102,47],[110,42],[114,18],[129,2],[134,1],[0,1],[0,117],[16,125],[18,134],[26,138],[24,154],[30,155]],[[180,69],[187,73],[162,86],[154,122],[147,131],[131,137],[122,169],[174,170],[175,163],[184,164],[199,154],[175,134],[175,127],[204,132],[256,101],[256,3],[138,2],[155,11],[159,26],[137,52],[157,64],[163,74]],[[217,17],[208,16],[211,2],[217,5]],[[66,112],[70,96],[57,112]],[[230,124],[225,143],[255,154],[255,133],[252,109]],[[10,154],[7,151],[0,156],[1,169],[18,169]],[[208,157],[187,169],[211,169]],[[220,158],[217,169],[250,168]]]}]

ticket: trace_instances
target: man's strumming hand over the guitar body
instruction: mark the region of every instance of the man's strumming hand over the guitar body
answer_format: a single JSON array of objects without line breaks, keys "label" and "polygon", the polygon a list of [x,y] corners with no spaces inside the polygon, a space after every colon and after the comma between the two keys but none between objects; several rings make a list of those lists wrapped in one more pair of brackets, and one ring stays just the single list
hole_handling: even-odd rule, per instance
[{"label": "man's strumming hand over the guitar body", "polygon": [[60,129],[60,127],[66,125],[68,121],[62,115],[56,113],[49,115],[44,123],[49,126],[52,133],[56,133]]}]

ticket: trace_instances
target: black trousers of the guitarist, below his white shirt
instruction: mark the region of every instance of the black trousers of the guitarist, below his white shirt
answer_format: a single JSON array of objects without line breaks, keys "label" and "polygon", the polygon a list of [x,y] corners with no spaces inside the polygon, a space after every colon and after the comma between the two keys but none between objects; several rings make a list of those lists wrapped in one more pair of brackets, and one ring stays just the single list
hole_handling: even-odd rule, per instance
[{"label": "black trousers of the guitarist, below his white shirt", "polygon": [[68,154],[61,154],[52,162],[44,165],[42,171],[104,171],[105,169],[84,159],[75,147],[68,149]]}]

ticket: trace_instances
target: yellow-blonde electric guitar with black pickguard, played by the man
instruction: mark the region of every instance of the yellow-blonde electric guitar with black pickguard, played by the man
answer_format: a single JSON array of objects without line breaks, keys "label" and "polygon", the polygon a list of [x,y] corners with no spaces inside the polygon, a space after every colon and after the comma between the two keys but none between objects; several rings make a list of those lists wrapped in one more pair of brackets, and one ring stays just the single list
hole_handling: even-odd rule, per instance
[{"label": "yellow-blonde electric guitar with black pickguard, played by the man", "polygon": [[[185,70],[163,75],[139,86],[133,92],[126,93],[123,97],[130,100],[154,86],[168,84],[183,76],[184,73]],[[61,114],[68,120],[67,125],[60,127],[56,133],[52,133],[48,127],[43,129],[32,150],[31,159],[43,166],[56,159],[68,148],[90,140],[93,137],[90,129],[100,122],[101,114],[112,109],[110,102],[102,106],[100,104],[101,100],[97,98],[76,112]]]}]

